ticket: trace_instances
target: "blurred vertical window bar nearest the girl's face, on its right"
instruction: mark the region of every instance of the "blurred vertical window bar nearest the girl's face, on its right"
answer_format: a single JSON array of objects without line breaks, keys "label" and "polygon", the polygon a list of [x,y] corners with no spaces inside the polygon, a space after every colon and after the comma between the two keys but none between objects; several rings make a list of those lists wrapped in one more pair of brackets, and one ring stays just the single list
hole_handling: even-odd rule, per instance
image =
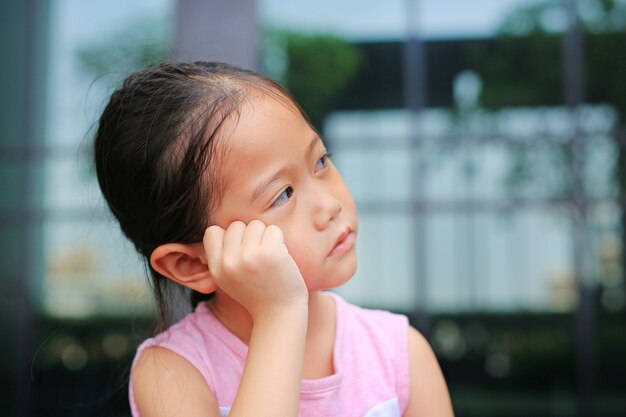
[{"label": "blurred vertical window bar nearest the girl's face, on its right", "polygon": [[424,42],[419,36],[419,0],[406,0],[407,40],[404,47],[404,94],[410,115],[411,169],[411,214],[413,216],[413,247],[415,251],[416,326],[429,335],[427,316],[427,265],[426,265],[426,209],[424,204],[424,168],[421,162],[423,149],[420,132],[420,113],[426,103],[426,62]]}]

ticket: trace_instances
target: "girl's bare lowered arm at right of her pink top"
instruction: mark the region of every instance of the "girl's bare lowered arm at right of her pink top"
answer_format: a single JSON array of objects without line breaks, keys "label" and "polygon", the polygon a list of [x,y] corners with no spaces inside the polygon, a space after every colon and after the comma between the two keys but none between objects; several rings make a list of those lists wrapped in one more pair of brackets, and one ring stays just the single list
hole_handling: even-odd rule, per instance
[{"label": "girl's bare lowered arm at right of her pink top", "polygon": [[451,417],[454,415],[446,381],[428,342],[409,328],[410,391],[404,417]]}]

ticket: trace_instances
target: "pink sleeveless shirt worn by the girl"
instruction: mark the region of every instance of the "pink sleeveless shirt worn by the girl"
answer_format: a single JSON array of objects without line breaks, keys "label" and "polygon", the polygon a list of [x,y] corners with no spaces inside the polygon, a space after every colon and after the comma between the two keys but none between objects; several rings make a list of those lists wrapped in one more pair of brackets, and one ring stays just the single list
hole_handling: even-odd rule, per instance
[{"label": "pink sleeveless shirt worn by the girl", "polygon": [[[409,397],[408,321],[366,310],[334,293],[337,329],[335,373],[302,380],[300,417],[400,417]],[[189,361],[215,394],[227,416],[237,393],[247,346],[213,315],[205,303],[164,333],[143,342],[170,349]],[[139,411],[130,389],[132,415]]]}]

